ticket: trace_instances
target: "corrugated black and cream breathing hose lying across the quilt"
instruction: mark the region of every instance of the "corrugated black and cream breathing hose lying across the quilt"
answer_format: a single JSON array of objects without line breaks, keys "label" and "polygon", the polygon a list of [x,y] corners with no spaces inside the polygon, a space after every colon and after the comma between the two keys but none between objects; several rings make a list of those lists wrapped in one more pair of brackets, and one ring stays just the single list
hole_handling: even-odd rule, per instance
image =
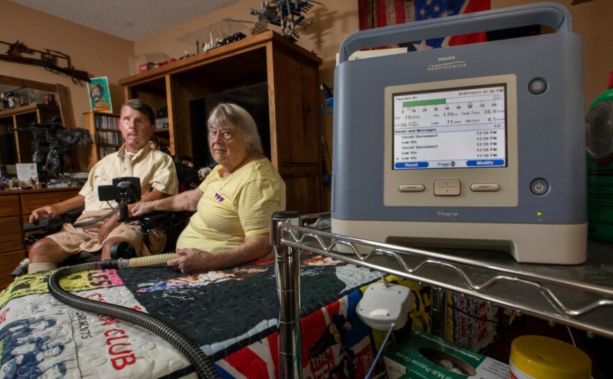
[{"label": "corrugated black and cream breathing hose lying across the quilt", "polygon": [[159,254],[157,256],[146,256],[142,258],[109,259],[103,262],[83,263],[81,265],[60,268],[49,277],[47,286],[49,287],[49,292],[57,300],[70,307],[82,309],[94,314],[118,318],[119,320],[124,320],[128,323],[139,325],[140,327],[157,334],[166,342],[170,343],[181,354],[183,354],[187,360],[189,360],[192,366],[194,366],[194,369],[196,369],[196,373],[198,373],[200,378],[221,379],[222,377],[219,375],[219,372],[217,372],[217,369],[215,369],[215,366],[212,364],[209,357],[202,351],[199,344],[188,337],[187,334],[176,329],[176,327],[173,327],[173,325],[166,323],[164,320],[160,320],[160,318],[151,316],[150,314],[135,311],[134,309],[127,307],[122,307],[121,305],[88,300],[77,295],[72,295],[60,286],[60,279],[67,277],[70,274],[75,274],[76,272],[116,268],[136,268],[146,265],[155,265],[158,263],[164,263],[174,256],[175,254]]}]

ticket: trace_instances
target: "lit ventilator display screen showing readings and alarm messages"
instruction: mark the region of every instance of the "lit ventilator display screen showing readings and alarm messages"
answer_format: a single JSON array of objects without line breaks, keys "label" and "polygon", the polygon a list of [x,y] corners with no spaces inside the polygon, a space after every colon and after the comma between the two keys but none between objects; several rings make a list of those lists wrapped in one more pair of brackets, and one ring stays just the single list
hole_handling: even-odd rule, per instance
[{"label": "lit ventilator display screen showing readings and alarm messages", "polygon": [[506,84],[392,98],[394,170],[506,167]]}]

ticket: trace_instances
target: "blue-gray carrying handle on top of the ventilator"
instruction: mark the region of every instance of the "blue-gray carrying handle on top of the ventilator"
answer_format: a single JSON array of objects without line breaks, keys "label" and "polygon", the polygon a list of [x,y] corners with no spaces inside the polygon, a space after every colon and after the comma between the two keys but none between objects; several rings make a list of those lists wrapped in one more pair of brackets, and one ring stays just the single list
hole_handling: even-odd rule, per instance
[{"label": "blue-gray carrying handle on top of the ventilator", "polygon": [[570,33],[571,14],[559,3],[533,3],[358,31],[341,43],[339,64],[347,61],[352,53],[368,47],[529,25],[547,25],[559,33]]}]

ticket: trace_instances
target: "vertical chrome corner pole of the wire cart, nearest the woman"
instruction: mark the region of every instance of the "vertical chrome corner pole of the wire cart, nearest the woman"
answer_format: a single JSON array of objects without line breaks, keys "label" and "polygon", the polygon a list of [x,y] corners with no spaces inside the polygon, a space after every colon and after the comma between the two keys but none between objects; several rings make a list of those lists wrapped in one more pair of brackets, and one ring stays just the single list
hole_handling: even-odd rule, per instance
[{"label": "vertical chrome corner pole of the wire cart, nearest the woman", "polygon": [[281,244],[279,224],[299,225],[300,214],[274,212],[270,219],[270,245],[279,297],[279,378],[302,378],[300,359],[300,249]]}]

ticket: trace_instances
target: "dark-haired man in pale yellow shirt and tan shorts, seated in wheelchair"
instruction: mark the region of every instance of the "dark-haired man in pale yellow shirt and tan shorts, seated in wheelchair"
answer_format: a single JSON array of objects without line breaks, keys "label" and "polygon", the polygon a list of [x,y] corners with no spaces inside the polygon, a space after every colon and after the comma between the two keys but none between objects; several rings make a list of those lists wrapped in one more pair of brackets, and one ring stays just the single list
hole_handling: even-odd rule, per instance
[{"label": "dark-haired man in pale yellow shirt and tan shorts, seated in wheelchair", "polygon": [[[56,263],[84,250],[101,252],[102,259],[111,256],[111,246],[128,242],[139,256],[157,254],[164,249],[166,236],[152,231],[149,247],[143,244],[143,234],[133,223],[121,224],[116,206],[98,199],[98,187],[111,185],[114,178],[135,176],[141,180],[142,200],[153,201],[176,194],[178,180],[170,155],[149,146],[149,137],[155,130],[155,113],[141,100],[129,100],[121,106],[119,128],[125,143],[116,153],[105,156],[91,169],[87,183],[72,199],[42,206],[33,210],[30,222],[55,217],[70,210],[84,207],[77,219],[77,227],[64,224],[58,233],[47,235],[35,242],[29,252],[28,272],[56,268]],[[132,206],[128,207],[131,215]]]}]

